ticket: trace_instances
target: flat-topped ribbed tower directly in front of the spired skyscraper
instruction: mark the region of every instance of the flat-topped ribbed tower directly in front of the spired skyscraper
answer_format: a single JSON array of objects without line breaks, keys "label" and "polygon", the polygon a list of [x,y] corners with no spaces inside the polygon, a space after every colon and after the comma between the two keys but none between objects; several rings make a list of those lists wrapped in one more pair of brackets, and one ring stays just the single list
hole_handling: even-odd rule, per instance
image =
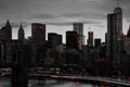
[{"label": "flat-topped ribbed tower directly in front of the spired skyscraper", "polygon": [[117,14],[107,15],[107,46],[106,58],[109,61],[117,61]]}]

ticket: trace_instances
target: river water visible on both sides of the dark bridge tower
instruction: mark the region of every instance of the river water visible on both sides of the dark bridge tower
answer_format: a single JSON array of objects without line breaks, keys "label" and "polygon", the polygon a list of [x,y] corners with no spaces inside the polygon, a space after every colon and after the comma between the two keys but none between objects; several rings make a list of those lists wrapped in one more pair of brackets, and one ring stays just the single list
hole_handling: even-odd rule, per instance
[{"label": "river water visible on both sides of the dark bridge tower", "polygon": [[[0,78],[0,87],[11,87],[10,78]],[[74,83],[74,82],[35,79],[28,82],[28,87],[93,87],[93,86],[88,84]]]}]

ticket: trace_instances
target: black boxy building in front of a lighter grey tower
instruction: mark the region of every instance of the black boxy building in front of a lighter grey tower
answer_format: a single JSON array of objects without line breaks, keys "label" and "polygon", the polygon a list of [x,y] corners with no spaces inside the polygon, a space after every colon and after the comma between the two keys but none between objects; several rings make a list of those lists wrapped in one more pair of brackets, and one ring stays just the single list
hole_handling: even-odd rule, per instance
[{"label": "black boxy building in front of a lighter grey tower", "polygon": [[77,39],[77,32],[66,32],[66,47],[68,49],[78,49]]}]

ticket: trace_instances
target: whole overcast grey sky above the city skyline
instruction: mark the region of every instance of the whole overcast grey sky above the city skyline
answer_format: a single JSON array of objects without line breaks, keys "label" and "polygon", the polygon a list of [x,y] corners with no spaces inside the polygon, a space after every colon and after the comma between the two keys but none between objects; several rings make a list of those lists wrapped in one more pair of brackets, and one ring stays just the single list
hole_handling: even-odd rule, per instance
[{"label": "whole overcast grey sky above the city skyline", "polygon": [[[130,25],[130,0],[120,0],[123,10],[123,33]],[[13,39],[17,38],[21,22],[25,36],[31,36],[31,23],[47,24],[47,33],[63,35],[73,30],[73,23],[83,23],[86,41],[88,30],[94,32],[94,38],[105,39],[107,14],[113,13],[117,0],[0,0],[0,27],[9,18],[13,27]]]}]

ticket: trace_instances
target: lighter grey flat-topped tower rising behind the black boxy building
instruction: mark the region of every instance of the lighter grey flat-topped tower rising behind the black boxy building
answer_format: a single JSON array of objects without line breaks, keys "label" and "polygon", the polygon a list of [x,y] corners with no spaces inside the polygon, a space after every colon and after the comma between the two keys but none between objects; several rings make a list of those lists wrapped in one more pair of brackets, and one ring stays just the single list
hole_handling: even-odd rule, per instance
[{"label": "lighter grey flat-topped tower rising behind the black boxy building", "polygon": [[78,35],[78,47],[81,49],[81,46],[84,45],[83,36],[83,23],[74,23],[74,32],[77,32]]}]

